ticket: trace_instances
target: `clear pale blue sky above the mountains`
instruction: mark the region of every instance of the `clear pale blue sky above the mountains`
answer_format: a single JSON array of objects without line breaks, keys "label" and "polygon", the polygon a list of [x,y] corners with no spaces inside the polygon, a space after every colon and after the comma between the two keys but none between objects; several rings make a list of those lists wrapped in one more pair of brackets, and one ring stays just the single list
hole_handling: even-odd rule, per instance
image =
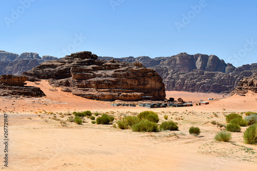
[{"label": "clear pale blue sky above the mountains", "polygon": [[2,0],[0,26],[0,49],[18,54],[187,52],[215,54],[235,66],[257,63],[254,0]]}]

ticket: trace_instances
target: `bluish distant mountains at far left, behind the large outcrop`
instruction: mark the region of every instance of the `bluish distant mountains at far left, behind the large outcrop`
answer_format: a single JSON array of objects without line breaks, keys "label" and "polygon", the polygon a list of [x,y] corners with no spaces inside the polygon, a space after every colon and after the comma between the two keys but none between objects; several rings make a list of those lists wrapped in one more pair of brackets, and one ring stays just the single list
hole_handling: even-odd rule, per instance
[{"label": "bluish distant mountains at far left, behind the large outcrop", "polygon": [[22,53],[21,55],[0,50],[0,75],[20,75],[42,62],[58,59],[53,56],[39,56],[38,53]]}]

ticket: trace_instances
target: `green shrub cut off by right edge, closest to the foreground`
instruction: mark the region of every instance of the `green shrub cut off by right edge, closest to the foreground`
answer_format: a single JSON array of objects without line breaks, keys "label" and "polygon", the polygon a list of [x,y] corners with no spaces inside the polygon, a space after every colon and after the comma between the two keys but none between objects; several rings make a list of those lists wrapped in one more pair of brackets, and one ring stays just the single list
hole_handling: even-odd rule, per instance
[{"label": "green shrub cut off by right edge, closest to the foreground", "polygon": [[257,144],[257,123],[245,130],[244,141],[246,144]]}]

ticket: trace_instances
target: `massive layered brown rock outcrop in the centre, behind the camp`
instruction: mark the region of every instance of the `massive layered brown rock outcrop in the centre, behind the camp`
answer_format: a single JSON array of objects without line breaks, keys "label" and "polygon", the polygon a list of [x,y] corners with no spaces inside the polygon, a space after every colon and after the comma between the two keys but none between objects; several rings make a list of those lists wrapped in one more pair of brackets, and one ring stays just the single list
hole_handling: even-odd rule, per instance
[{"label": "massive layered brown rock outcrop in the centre, behind the camp", "polygon": [[139,101],[144,96],[165,99],[164,84],[156,71],[137,62],[97,58],[88,51],[72,53],[60,60],[42,63],[23,75],[30,81],[49,79],[51,85],[88,99]]}]

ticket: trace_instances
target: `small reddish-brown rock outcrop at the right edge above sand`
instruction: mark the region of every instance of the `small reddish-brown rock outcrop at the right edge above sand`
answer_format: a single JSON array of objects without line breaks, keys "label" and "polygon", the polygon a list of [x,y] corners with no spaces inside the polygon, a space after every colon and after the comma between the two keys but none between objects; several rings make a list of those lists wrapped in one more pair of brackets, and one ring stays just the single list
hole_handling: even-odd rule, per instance
[{"label": "small reddish-brown rock outcrop at the right edge above sand", "polygon": [[246,77],[239,81],[236,89],[232,92],[232,94],[245,94],[248,90],[257,93],[257,73],[251,77]]}]

